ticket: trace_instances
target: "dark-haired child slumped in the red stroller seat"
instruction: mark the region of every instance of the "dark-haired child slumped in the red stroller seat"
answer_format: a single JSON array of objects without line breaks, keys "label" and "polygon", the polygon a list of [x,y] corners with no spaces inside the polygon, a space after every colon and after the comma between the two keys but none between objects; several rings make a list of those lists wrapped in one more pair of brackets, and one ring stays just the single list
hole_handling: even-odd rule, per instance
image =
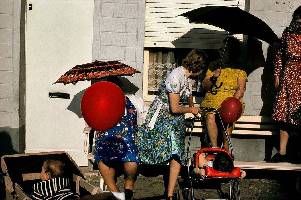
[{"label": "dark-haired child slumped in the red stroller seat", "polygon": [[[202,178],[206,176],[205,167],[210,166],[216,171],[222,171],[222,172],[231,172],[232,168],[234,167],[232,158],[228,155],[228,153],[221,151],[216,154],[216,156],[212,160],[206,159],[206,153],[201,153],[199,155],[198,159],[198,166],[199,168],[195,167],[193,169],[195,174],[200,174]],[[243,170],[240,170],[240,176],[242,178],[246,177],[246,172]]]}]

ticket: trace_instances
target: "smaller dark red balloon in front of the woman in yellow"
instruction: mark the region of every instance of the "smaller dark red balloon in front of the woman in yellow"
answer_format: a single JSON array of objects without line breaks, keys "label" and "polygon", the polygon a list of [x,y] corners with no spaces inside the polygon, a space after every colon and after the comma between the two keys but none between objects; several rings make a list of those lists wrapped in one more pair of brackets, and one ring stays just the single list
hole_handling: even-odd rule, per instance
[{"label": "smaller dark red balloon in front of the woman in yellow", "polygon": [[235,97],[226,98],[221,104],[221,116],[227,123],[234,123],[239,118],[243,111],[240,101]]}]

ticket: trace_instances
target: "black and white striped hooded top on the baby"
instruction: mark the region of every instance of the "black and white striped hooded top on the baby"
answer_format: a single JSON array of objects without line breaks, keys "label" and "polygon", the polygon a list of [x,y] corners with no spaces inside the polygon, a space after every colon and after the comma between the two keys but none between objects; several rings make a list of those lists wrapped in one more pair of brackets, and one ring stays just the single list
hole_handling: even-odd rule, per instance
[{"label": "black and white striped hooded top on the baby", "polygon": [[67,200],[79,198],[71,192],[69,178],[51,178],[33,185],[32,199],[37,200]]}]

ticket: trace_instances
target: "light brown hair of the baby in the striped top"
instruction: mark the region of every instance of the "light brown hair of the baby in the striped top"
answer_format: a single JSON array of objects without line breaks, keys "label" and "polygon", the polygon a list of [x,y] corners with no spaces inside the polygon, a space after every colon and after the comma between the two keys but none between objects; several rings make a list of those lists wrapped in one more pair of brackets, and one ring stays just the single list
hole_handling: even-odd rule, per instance
[{"label": "light brown hair of the baby in the striped top", "polygon": [[64,178],[66,162],[59,156],[51,156],[45,160],[45,172],[49,172],[51,178]]}]

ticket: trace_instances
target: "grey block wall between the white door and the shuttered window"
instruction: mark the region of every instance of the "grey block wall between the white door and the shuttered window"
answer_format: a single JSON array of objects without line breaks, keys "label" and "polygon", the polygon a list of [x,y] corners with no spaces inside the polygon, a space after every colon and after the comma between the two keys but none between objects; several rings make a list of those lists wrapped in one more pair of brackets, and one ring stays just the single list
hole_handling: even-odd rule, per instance
[{"label": "grey block wall between the white door and the shuttered window", "polygon": [[[145,1],[95,0],[92,60],[117,60],[143,71]],[[142,94],[142,74],[125,77]]]}]

